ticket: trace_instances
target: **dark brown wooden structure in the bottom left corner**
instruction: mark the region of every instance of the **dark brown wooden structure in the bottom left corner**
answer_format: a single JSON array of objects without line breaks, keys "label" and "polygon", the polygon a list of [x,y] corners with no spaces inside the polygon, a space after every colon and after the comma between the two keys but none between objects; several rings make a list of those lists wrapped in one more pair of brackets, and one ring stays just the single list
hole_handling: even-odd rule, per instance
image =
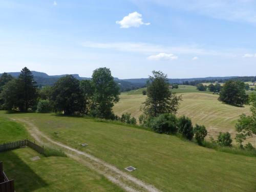
[{"label": "dark brown wooden structure in the bottom left corner", "polygon": [[15,192],[14,180],[9,180],[3,170],[3,162],[0,162],[0,192]]}]

